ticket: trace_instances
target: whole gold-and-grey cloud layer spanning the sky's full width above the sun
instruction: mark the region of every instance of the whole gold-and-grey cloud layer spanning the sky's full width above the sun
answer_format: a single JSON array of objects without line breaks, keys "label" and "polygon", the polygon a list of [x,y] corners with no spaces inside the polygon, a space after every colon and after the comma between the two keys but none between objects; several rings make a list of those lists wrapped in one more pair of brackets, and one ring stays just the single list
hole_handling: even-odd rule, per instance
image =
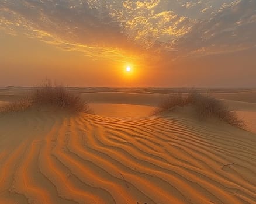
[{"label": "whole gold-and-grey cloud layer spanning the sky's full width above the sun", "polygon": [[254,47],[255,8],[255,0],[2,0],[0,30],[95,59],[175,59]]}]

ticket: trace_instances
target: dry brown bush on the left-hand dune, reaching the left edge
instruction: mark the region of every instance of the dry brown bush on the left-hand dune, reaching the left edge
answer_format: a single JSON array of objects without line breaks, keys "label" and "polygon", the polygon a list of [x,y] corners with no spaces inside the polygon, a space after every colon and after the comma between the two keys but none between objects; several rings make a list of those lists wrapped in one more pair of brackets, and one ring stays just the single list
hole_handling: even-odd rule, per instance
[{"label": "dry brown bush on the left-hand dune, reaching the left edge", "polygon": [[80,96],[72,94],[67,87],[52,86],[44,82],[39,87],[34,87],[26,100],[20,100],[2,107],[2,112],[24,111],[29,107],[51,106],[71,112],[92,113],[88,102]]}]

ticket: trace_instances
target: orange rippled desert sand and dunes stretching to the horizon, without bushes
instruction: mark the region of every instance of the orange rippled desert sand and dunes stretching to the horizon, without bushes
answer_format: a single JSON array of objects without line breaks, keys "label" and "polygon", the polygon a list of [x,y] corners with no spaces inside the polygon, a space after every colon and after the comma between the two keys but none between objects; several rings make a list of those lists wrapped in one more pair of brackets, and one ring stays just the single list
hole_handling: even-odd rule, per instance
[{"label": "orange rippled desert sand and dunes stretching to the horizon, without bushes", "polygon": [[[0,203],[256,203],[256,90],[213,89],[247,130],[190,108],[150,117],[180,89],[71,88],[95,115],[0,115]],[[206,90],[200,90],[206,92]],[[30,92],[1,87],[0,105]]]}]

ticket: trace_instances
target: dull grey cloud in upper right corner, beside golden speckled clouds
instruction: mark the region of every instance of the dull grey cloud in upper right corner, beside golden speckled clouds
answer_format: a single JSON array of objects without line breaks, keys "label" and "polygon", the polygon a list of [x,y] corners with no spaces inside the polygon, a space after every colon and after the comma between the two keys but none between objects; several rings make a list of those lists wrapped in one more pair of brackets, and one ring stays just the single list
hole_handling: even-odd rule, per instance
[{"label": "dull grey cloud in upper right corner, beside golden speckled clouds", "polygon": [[199,20],[191,32],[175,42],[188,54],[245,50],[256,45],[256,2],[224,3],[215,15]]}]

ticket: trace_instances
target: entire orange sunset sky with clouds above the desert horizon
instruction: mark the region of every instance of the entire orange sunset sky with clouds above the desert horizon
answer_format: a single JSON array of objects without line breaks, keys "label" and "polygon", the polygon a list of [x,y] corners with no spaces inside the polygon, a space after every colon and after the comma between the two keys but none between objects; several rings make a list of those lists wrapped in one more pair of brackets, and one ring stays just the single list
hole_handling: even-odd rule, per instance
[{"label": "entire orange sunset sky with clouds above the desert horizon", "polygon": [[256,87],[256,0],[0,0],[0,86],[44,79]]}]

